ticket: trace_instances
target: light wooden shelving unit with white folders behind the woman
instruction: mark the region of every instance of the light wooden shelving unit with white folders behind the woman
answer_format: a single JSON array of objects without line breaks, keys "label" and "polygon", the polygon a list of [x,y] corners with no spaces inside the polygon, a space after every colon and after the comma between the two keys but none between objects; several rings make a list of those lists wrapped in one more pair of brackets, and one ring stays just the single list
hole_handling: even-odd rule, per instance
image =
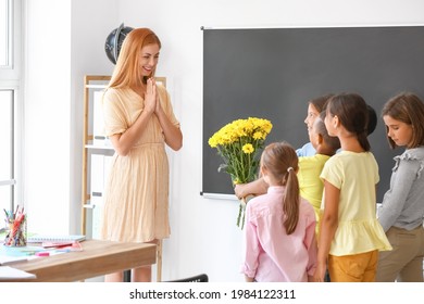
[{"label": "light wooden shelving unit with white folders behind the woman", "polygon": [[[102,130],[103,117],[99,107],[100,94],[110,79],[111,76],[104,75],[84,77],[82,231],[88,238],[98,236],[102,210],[102,185],[108,175],[108,161],[114,154],[114,149]],[[155,77],[155,79],[166,86],[165,77]],[[92,189],[93,185],[101,189]],[[160,241],[157,252],[157,281],[161,280],[162,242]]]}]

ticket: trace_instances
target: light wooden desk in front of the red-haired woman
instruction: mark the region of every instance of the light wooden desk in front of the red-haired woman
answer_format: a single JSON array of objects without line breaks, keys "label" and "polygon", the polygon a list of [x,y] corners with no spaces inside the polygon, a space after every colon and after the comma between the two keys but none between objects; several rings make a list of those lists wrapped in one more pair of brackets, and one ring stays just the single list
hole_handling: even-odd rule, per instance
[{"label": "light wooden desk in front of the red-haired woman", "polygon": [[37,275],[28,282],[72,282],[122,271],[157,261],[157,245],[147,243],[87,240],[84,251],[70,252],[11,265]]}]

